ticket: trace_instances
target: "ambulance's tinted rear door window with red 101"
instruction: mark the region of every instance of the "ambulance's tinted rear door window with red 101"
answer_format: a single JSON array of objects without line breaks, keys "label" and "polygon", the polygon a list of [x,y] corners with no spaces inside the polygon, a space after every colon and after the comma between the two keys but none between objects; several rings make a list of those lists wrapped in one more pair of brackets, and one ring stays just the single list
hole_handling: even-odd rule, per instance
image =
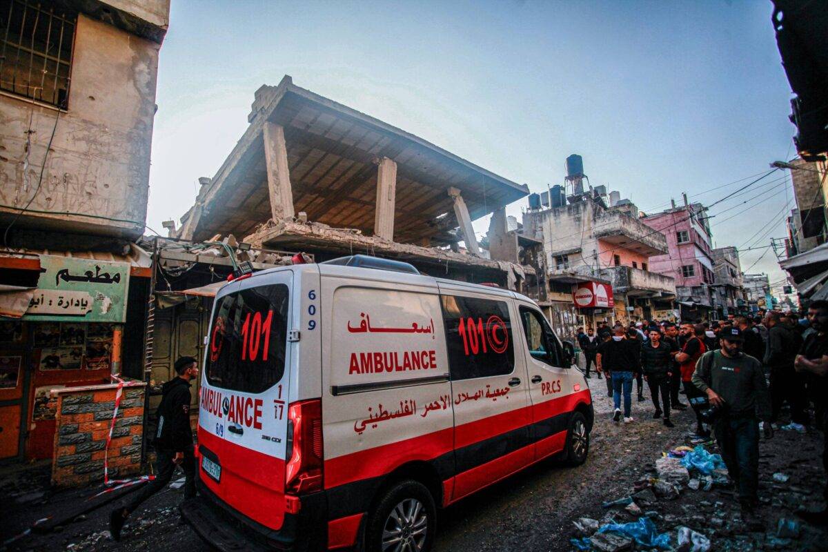
[{"label": "ambulance's tinted rear door window with red 101", "polygon": [[219,299],[210,326],[207,381],[210,385],[261,393],[285,372],[288,289],[258,286]]}]

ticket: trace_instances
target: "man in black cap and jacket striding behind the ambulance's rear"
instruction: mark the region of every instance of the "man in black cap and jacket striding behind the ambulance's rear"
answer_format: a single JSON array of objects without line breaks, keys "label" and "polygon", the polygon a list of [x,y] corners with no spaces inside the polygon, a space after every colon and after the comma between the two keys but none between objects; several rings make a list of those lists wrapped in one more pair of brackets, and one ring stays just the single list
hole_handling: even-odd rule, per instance
[{"label": "man in black cap and jacket striding behind the ambulance's rear", "polygon": [[176,471],[184,470],[184,499],[195,497],[195,456],[193,432],[190,430],[190,381],[199,375],[198,361],[181,357],[176,361],[176,374],[161,387],[163,396],[158,406],[158,429],[155,434],[156,478],[144,483],[144,487],[122,508],[109,516],[109,531],[114,540],[121,539],[121,528],[127,517],[142,502],[166,487]]}]

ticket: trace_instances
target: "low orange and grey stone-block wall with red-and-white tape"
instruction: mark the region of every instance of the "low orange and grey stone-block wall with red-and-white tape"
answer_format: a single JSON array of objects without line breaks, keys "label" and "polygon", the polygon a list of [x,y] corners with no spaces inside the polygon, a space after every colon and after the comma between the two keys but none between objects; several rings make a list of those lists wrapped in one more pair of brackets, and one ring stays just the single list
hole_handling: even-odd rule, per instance
[{"label": "low orange and grey stone-block wall with red-and-white tape", "polygon": [[[146,384],[142,382],[123,388],[109,443],[109,478],[132,475],[141,469],[145,389]],[[107,384],[52,391],[57,396],[51,475],[55,487],[83,487],[103,482],[106,439],[117,390],[117,384]]]}]

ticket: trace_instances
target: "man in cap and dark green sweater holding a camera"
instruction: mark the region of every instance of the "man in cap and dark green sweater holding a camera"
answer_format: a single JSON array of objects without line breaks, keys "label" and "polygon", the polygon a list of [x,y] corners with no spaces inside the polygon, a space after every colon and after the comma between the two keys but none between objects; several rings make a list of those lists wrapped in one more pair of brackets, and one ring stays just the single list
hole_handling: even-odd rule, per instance
[{"label": "man in cap and dark green sweater holding a camera", "polygon": [[759,430],[764,422],[766,439],[773,436],[768,384],[762,365],[742,353],[744,338],[738,328],[720,337],[720,348],[702,355],[693,373],[693,384],[719,409],[714,422],[716,441],[731,479],[739,488],[739,504],[745,521],[758,505]]}]

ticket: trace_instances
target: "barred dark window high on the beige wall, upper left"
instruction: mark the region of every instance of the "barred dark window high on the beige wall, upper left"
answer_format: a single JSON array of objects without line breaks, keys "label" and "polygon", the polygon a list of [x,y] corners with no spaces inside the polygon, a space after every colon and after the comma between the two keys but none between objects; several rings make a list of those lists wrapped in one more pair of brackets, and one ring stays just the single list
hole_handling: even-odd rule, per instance
[{"label": "barred dark window high on the beige wall, upper left", "polygon": [[66,108],[77,14],[0,0],[0,90]]}]

